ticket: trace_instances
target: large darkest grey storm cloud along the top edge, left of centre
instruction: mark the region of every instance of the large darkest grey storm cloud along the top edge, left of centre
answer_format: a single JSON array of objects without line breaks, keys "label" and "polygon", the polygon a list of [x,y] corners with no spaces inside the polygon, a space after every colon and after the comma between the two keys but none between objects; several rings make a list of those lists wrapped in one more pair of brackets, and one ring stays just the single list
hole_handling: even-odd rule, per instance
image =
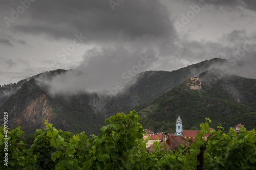
[{"label": "large darkest grey storm cloud along the top edge, left of centre", "polygon": [[173,27],[168,11],[157,1],[125,1],[112,10],[109,1],[36,1],[26,11],[24,25],[14,30],[74,39],[82,33],[88,41],[166,36]]}]

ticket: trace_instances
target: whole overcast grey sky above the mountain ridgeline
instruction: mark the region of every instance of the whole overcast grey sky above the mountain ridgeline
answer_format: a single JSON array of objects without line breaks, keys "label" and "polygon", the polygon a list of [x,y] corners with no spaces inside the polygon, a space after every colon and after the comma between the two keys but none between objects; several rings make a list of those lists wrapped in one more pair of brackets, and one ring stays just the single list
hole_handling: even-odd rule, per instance
[{"label": "whole overcast grey sky above the mountain ridgeline", "polygon": [[1,85],[61,68],[104,89],[128,69],[172,71],[243,47],[241,61],[255,61],[254,0],[3,0],[0,16]]}]

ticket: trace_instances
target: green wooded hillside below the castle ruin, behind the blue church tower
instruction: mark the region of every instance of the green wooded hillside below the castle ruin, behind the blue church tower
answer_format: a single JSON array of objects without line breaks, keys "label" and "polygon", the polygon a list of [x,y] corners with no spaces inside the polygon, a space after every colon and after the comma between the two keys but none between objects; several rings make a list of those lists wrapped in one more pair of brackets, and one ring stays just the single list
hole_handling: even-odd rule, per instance
[{"label": "green wooded hillside below the castle ruin, behind the blue church tower", "polygon": [[135,107],[139,111],[150,105],[159,106],[142,118],[143,127],[155,132],[174,132],[180,115],[183,129],[200,129],[205,117],[212,120],[212,128],[219,123],[225,130],[240,123],[249,130],[255,128],[256,80],[234,75],[218,78],[217,72],[211,69],[199,75],[201,90],[191,90],[183,83],[147,105]]}]

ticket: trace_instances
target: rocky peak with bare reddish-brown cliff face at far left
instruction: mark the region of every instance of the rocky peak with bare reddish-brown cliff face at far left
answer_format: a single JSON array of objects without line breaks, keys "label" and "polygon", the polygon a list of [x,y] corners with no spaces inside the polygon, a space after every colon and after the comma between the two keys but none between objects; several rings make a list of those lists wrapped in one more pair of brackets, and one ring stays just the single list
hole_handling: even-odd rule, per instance
[{"label": "rocky peak with bare reddish-brown cliff face at far left", "polygon": [[64,117],[58,116],[50,105],[51,98],[34,84],[34,79],[31,79],[11,96],[0,111],[8,112],[9,128],[20,126],[26,132],[33,133],[36,129],[44,128],[47,120],[56,128],[68,130]]}]

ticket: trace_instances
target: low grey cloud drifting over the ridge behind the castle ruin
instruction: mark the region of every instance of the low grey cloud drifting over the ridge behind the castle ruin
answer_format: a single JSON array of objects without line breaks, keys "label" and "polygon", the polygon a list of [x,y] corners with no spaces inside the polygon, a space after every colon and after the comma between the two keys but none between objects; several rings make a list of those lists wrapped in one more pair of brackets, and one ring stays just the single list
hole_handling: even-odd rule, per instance
[{"label": "low grey cloud drifting over the ridge behind the castle ruin", "polygon": [[[256,35],[245,30],[234,30],[223,35],[218,42],[181,41],[176,48],[177,59],[200,62],[203,59],[223,58],[228,61],[228,74],[255,79]],[[219,67],[211,65],[210,67]],[[221,69],[221,66],[220,66]]]}]

